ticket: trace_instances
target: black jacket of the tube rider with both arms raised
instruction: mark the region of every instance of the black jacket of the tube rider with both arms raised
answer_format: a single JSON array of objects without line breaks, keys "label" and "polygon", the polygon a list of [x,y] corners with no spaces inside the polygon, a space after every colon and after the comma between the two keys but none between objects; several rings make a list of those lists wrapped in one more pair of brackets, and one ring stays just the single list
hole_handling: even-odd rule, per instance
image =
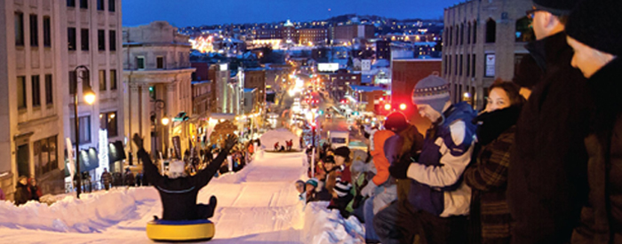
[{"label": "black jacket of the tube rider with both arms raised", "polygon": [[151,185],[156,186],[162,200],[164,220],[194,220],[198,219],[198,207],[196,195],[203,186],[207,185],[211,177],[214,177],[220,163],[227,158],[228,152],[219,153],[207,168],[199,171],[192,177],[169,178],[160,175],[160,172],[151,162],[149,154],[140,149],[138,155],[143,161],[144,177],[148,178]]}]

